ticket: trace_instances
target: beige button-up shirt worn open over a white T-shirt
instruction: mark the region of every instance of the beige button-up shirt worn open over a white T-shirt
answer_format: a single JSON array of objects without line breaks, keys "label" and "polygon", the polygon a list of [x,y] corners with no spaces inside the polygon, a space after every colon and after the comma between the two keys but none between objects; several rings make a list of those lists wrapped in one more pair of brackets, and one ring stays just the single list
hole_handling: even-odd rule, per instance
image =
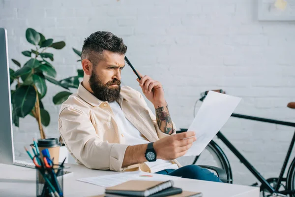
[{"label": "beige button-up shirt worn open over a white T-shirt", "polygon": [[[145,136],[154,142],[169,136],[163,133],[156,117],[138,91],[121,87],[118,103],[125,117]],[[176,126],[173,123],[173,133]],[[119,134],[115,115],[107,101],[94,97],[82,84],[69,96],[59,111],[59,133],[70,154],[78,164],[92,169],[150,172],[147,164],[122,168],[126,148],[124,135]],[[173,160],[179,167],[180,164]]]}]

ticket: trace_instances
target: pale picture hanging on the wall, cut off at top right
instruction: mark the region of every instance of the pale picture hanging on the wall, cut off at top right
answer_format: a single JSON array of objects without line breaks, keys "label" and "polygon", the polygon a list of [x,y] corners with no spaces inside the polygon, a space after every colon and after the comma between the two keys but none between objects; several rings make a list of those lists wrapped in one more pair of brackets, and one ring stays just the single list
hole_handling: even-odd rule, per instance
[{"label": "pale picture hanging on the wall, cut off at top right", "polygon": [[257,0],[259,21],[295,21],[295,0]]}]

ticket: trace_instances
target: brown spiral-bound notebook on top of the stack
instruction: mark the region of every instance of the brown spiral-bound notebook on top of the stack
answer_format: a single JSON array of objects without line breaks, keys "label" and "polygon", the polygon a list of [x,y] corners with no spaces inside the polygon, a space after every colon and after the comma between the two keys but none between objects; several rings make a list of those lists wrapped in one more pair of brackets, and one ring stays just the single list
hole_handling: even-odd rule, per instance
[{"label": "brown spiral-bound notebook on top of the stack", "polygon": [[131,180],[114,187],[106,188],[106,195],[117,194],[122,196],[149,197],[157,192],[173,187],[174,182],[169,181],[140,181]]}]

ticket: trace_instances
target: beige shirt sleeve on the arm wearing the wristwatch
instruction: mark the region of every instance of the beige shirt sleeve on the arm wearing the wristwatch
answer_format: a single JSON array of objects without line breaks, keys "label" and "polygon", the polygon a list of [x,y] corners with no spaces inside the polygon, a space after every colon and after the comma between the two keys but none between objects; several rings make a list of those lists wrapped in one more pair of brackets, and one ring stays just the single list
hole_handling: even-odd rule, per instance
[{"label": "beige shirt sleeve on the arm wearing the wristwatch", "polygon": [[88,168],[123,170],[128,145],[102,141],[85,112],[73,107],[62,109],[59,113],[59,133],[70,152]]}]

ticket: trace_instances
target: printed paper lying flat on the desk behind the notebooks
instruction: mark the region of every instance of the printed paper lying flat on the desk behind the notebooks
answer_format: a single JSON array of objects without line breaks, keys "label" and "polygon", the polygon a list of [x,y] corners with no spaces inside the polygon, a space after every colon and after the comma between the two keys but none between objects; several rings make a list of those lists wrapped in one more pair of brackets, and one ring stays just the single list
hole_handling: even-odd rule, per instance
[{"label": "printed paper lying flat on the desk behind the notebooks", "polygon": [[124,183],[130,180],[145,180],[145,181],[168,181],[177,180],[181,177],[167,176],[162,174],[147,173],[142,171],[134,172],[123,172],[112,175],[97,176],[78,179],[78,181],[102,186],[102,187],[113,187],[115,185]]}]

